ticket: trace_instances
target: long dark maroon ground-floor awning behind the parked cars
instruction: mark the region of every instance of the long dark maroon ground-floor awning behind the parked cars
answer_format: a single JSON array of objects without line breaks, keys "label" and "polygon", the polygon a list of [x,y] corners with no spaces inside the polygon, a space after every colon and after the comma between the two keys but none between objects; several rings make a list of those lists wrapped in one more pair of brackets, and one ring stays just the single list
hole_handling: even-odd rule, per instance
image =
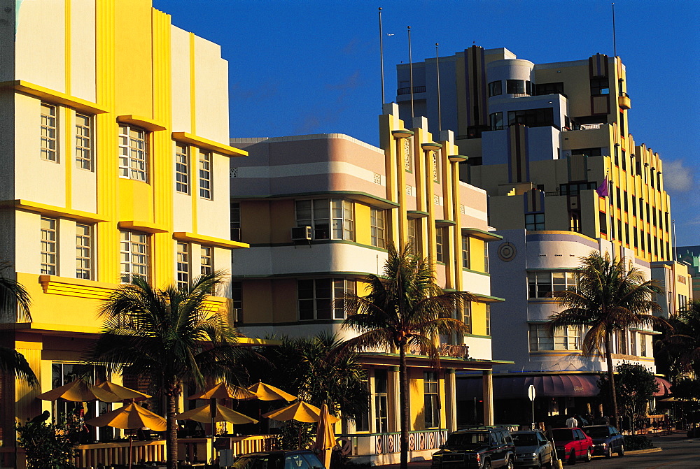
[{"label": "long dark maroon ground-floor awning behind the parked cars", "polygon": [[[598,396],[598,375],[493,375],[493,398],[528,398],[532,384],[537,396],[591,397]],[[482,378],[468,377],[457,380],[457,400],[482,397]]]}]

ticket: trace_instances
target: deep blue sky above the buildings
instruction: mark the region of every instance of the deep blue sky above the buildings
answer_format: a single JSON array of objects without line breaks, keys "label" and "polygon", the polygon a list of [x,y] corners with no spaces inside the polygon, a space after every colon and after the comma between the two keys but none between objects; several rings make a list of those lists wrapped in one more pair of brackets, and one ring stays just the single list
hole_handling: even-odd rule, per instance
[{"label": "deep blue sky above the buildings", "polygon": [[[387,101],[395,64],[473,43],[535,63],[612,55],[609,1],[153,0],[178,27],[221,44],[229,61],[232,137],[342,133],[377,145],[377,8]],[[700,2],[615,2],[627,68],[629,128],[659,152],[678,245],[700,245]],[[386,34],[394,34],[387,36]]]}]

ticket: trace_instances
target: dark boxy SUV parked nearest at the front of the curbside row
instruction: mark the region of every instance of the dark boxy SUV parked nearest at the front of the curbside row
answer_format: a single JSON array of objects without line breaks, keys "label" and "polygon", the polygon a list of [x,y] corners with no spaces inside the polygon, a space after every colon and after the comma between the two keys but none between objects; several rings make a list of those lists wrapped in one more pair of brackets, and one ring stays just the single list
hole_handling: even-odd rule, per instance
[{"label": "dark boxy SUV parked nearest at the front of the curbside row", "polygon": [[515,445],[507,428],[479,426],[450,433],[431,469],[512,469]]}]

